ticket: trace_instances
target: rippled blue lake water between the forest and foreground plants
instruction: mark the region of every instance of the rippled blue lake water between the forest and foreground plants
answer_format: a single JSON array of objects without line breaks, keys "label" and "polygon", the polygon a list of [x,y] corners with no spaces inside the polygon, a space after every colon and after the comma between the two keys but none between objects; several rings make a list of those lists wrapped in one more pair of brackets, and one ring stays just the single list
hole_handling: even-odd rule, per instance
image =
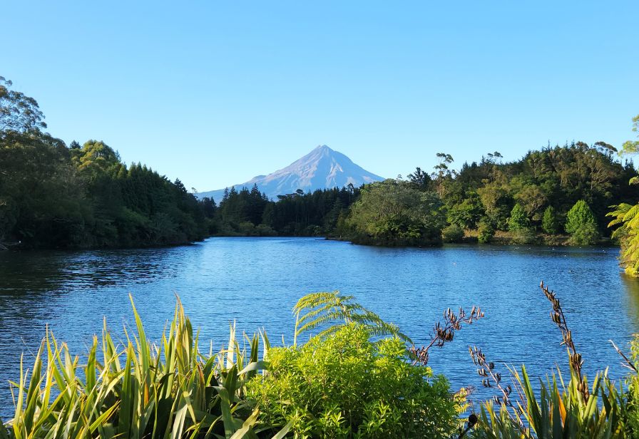
[{"label": "rippled blue lake water between the forest and foreground plants", "polygon": [[[308,292],[341,290],[394,321],[418,344],[449,306],[477,304],[486,319],[431,353],[452,386],[479,386],[469,345],[496,363],[525,362],[545,375],[566,363],[561,336],[538,289],[543,279],[564,304],[586,371],[623,368],[608,339],[625,346],[639,328],[639,284],[623,277],[618,249],[449,246],[380,249],[296,238],[213,238],[187,247],[88,252],[0,252],[0,415],[11,410],[7,382],[19,358],[31,364],[45,327],[84,353],[103,317],[132,321],[128,294],[158,339],[179,294],[200,338],[220,346],[228,324],[272,341],[292,341],[290,309]],[[155,335],[154,335],[155,334]],[[208,345],[208,343],[205,343]],[[506,375],[506,368],[499,367]],[[483,392],[478,393],[484,396]]]}]

